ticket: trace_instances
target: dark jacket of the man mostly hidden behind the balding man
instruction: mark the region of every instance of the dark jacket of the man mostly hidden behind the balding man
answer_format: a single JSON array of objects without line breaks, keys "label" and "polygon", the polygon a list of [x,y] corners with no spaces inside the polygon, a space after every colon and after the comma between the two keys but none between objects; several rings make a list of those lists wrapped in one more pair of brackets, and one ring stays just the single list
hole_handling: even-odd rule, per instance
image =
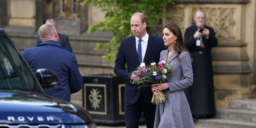
[{"label": "dark jacket of the man mostly hidden behind the balding man", "polygon": [[[69,43],[68,36],[60,33],[58,33],[58,35],[60,38],[60,45],[62,46],[62,48],[64,48],[65,50],[68,50],[69,52],[73,52]],[[41,43],[42,41],[40,40],[40,36],[38,35],[36,38],[36,43],[34,44],[34,47],[38,46],[38,44],[41,44]]]}]

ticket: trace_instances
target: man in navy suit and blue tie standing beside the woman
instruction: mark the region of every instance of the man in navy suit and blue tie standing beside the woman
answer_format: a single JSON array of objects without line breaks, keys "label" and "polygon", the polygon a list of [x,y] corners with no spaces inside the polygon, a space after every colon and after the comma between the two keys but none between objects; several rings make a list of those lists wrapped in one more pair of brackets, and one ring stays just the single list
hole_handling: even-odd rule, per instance
[{"label": "man in navy suit and blue tie standing beside the woman", "polygon": [[[151,86],[137,89],[131,84],[130,73],[140,66],[139,58],[146,65],[152,61],[158,63],[160,52],[165,50],[164,41],[160,37],[146,32],[146,16],[140,12],[132,15],[131,30],[133,36],[122,40],[115,60],[115,74],[125,80],[124,89],[124,117],[126,128],[138,128],[140,116],[143,112],[147,128],[153,128],[156,105],[151,103],[153,93]],[[141,56],[138,57],[137,49],[139,39],[141,43]],[[127,64],[127,70],[126,70]]]}]

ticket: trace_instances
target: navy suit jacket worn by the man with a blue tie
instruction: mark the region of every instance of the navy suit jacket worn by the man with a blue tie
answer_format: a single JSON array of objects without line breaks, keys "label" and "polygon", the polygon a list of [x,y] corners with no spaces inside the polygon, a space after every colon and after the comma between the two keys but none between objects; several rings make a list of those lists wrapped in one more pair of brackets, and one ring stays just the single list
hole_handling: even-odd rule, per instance
[{"label": "navy suit jacket worn by the man with a blue tie", "polygon": [[[160,52],[166,49],[164,46],[164,41],[160,37],[156,37],[148,34],[148,45],[145,53],[143,62],[149,65],[152,61],[158,63],[160,59]],[[126,70],[127,64],[127,70]],[[138,55],[136,51],[136,40],[135,36],[130,36],[122,40],[118,54],[115,60],[114,72],[115,74],[125,80],[124,89],[124,102],[134,104],[140,93],[142,93],[144,101],[148,104],[151,103],[151,98],[153,93],[151,91],[151,86],[145,88],[137,89],[137,85],[131,84],[130,73],[140,66],[138,60]]]}]

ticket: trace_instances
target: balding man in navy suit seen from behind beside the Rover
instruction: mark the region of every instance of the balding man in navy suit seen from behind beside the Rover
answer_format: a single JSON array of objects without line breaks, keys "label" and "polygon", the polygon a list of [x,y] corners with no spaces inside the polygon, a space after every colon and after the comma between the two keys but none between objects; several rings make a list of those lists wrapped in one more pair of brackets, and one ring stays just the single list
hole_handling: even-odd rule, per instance
[{"label": "balding man in navy suit seen from behind beside the Rover", "polygon": [[54,26],[43,24],[38,34],[43,43],[33,48],[26,48],[22,55],[30,64],[34,74],[39,68],[47,68],[57,74],[56,88],[44,90],[45,94],[70,102],[71,94],[78,92],[83,86],[76,56],[64,50],[57,42],[58,33]]}]

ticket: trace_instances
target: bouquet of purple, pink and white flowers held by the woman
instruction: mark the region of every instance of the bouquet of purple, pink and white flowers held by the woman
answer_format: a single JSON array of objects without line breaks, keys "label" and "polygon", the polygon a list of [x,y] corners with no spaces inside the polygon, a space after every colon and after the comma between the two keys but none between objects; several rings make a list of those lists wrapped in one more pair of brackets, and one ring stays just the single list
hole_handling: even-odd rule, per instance
[{"label": "bouquet of purple, pink and white flowers held by the woman", "polygon": [[[161,58],[161,61],[156,64],[152,62],[150,65],[145,65],[145,63],[141,63],[137,70],[133,71],[131,74],[135,76],[133,79],[132,84],[138,84],[138,89],[151,86],[152,84],[160,84],[167,80],[169,76],[172,74],[172,69],[170,68],[170,64],[167,64],[168,58]],[[159,91],[158,94],[153,95],[152,97],[152,104],[158,104],[165,102],[166,95]]]}]

